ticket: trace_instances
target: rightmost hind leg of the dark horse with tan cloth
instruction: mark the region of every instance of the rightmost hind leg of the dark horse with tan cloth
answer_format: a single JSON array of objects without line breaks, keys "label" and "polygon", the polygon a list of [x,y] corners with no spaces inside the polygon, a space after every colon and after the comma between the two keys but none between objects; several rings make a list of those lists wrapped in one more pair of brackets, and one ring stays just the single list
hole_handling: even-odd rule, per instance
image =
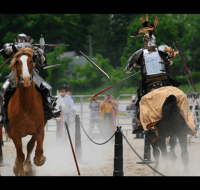
[{"label": "rightmost hind leg of the dark horse with tan cloth", "polygon": [[189,155],[187,151],[187,134],[179,133],[177,134],[178,140],[181,146],[181,158],[184,165],[185,174],[189,173],[188,164],[189,164]]}]

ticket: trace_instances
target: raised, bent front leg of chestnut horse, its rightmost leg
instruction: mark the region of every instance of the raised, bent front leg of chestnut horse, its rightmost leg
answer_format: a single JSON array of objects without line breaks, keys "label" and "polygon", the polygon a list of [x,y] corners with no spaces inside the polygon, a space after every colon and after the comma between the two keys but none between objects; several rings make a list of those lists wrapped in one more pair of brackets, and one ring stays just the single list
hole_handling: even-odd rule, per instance
[{"label": "raised, bent front leg of chestnut horse, its rightmost leg", "polygon": [[36,166],[42,166],[46,161],[46,157],[43,155],[44,128],[40,128],[37,133],[36,140],[37,147],[35,150],[34,164]]}]

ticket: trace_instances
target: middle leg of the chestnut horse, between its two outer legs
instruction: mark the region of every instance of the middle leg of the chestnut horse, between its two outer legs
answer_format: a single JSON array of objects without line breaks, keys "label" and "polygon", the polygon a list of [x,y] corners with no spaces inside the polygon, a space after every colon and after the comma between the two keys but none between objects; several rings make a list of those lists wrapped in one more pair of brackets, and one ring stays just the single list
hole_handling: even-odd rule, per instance
[{"label": "middle leg of the chestnut horse, between its two outer legs", "polygon": [[35,141],[36,141],[36,134],[32,136],[31,140],[27,144],[27,157],[24,162],[24,171],[26,172],[26,175],[32,175],[32,164],[30,158],[33,148],[35,146]]}]

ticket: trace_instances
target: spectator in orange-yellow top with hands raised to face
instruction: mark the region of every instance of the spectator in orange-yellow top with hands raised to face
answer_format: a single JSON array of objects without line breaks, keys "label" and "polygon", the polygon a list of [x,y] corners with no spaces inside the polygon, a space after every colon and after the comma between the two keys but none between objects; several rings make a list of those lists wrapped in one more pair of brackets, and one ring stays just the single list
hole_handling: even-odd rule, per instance
[{"label": "spectator in orange-yellow top with hands raised to face", "polygon": [[104,101],[100,104],[100,119],[104,125],[105,140],[108,140],[116,129],[117,106],[110,93],[106,94]]}]

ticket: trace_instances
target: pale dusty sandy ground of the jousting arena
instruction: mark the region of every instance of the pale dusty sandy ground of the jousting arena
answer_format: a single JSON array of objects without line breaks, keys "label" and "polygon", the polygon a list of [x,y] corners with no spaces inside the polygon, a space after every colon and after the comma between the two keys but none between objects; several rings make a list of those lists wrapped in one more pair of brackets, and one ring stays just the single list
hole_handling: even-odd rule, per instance
[{"label": "pale dusty sandy ground of the jousting arena", "polygon": [[[124,121],[130,122],[131,118],[124,117]],[[123,121],[123,122],[124,122]],[[87,122],[83,122],[86,131],[89,129]],[[143,158],[144,156],[144,139],[135,139],[135,135],[131,134],[131,126],[124,125],[124,131],[128,141],[138,154]],[[47,129],[46,129],[47,130]],[[78,176],[76,165],[74,162],[72,150],[66,129],[63,128],[63,135],[60,139],[56,138],[55,120],[49,121],[48,131],[45,132],[44,139],[44,155],[47,160],[43,166],[37,167],[33,164],[34,176]],[[53,132],[49,132],[53,131]],[[70,126],[70,133],[74,143],[74,123]],[[199,136],[199,134],[198,134]],[[26,144],[31,136],[23,138],[23,148],[26,154]],[[94,129],[94,134],[91,138],[97,142],[105,142],[105,139],[99,137],[98,129]],[[5,135],[4,135],[5,140]],[[189,152],[189,176],[200,176],[200,138],[192,138],[191,145],[188,145]],[[75,145],[74,145],[75,146]],[[169,146],[167,146],[169,150]],[[151,149],[152,152],[152,149]],[[32,153],[32,160],[35,149]],[[183,164],[181,161],[180,145],[176,146],[177,161],[176,163],[166,163],[160,158],[159,172],[166,176],[183,176]],[[14,176],[12,171],[16,157],[16,150],[12,140],[4,142],[3,146],[3,161],[7,166],[0,167],[1,176]],[[151,159],[154,161],[153,155]],[[104,145],[96,145],[91,142],[81,129],[81,157],[77,158],[80,176],[113,176],[114,170],[114,143],[109,141]],[[125,139],[123,140],[123,171],[124,176],[154,176],[152,169],[145,164],[137,164],[141,160],[132,151]],[[154,167],[154,163],[151,164]]]}]

